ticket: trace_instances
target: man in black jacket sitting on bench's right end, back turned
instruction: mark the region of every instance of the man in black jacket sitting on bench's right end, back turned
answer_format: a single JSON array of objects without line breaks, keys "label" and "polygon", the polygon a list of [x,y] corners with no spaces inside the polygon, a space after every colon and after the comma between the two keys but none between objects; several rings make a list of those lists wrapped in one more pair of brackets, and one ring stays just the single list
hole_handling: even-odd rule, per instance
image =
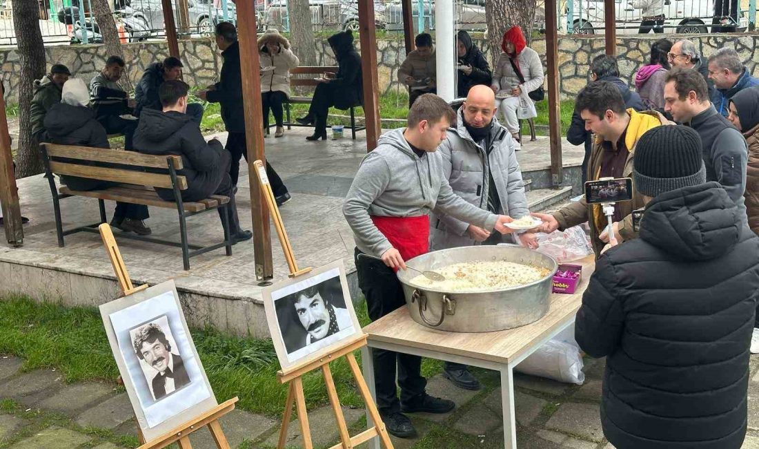
[{"label": "man in black jacket sitting on bench's right end, back turned", "polygon": [[[184,168],[178,174],[187,179],[187,189],[181,191],[182,201],[200,201],[212,194],[228,196],[232,242],[248,240],[253,234],[240,229],[235,204],[237,189],[229,177],[229,153],[216,139],[206,142],[200,133],[200,125],[185,113],[189,89],[184,81],[179,80],[161,84],[158,94],[163,110],[143,110],[140,124],[134,131],[134,147],[144,154],[181,156]],[[156,193],[165,201],[175,201],[174,191],[170,188],[156,188]],[[222,217],[222,209],[219,209],[219,217]]]}]

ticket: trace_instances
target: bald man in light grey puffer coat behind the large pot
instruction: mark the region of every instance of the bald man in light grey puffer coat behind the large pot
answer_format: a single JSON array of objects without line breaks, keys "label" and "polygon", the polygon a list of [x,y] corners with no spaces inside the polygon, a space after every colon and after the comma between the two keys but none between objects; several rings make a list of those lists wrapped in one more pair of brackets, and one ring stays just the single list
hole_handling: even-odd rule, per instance
[{"label": "bald man in light grey puffer coat behind the large pot", "polygon": [[[469,90],[438,151],[443,175],[455,194],[491,213],[515,219],[529,215],[515,141],[496,119],[496,96],[490,87],[477,85]],[[533,233],[501,236],[437,211],[433,211],[430,227],[431,251],[501,242],[537,248]],[[443,375],[457,387],[480,389],[466,365],[446,362]]]}]

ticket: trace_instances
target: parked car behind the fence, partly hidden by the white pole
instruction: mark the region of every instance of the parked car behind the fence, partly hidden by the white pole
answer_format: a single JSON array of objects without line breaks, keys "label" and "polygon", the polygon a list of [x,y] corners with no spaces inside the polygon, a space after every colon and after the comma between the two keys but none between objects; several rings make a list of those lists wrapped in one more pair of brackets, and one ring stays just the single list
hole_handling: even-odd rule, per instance
[{"label": "parked car behind the fence, partly hidden by the white pole", "polygon": [[[451,0],[448,0],[451,1]],[[487,27],[485,21],[485,2],[487,0],[455,0],[455,21],[459,30],[484,30]],[[425,27],[435,28],[435,2],[424,0],[423,17]],[[414,24],[419,17],[419,2],[412,0],[411,14],[414,16]],[[385,22],[387,30],[403,30],[403,6],[401,0],[392,0],[385,8]]]}]

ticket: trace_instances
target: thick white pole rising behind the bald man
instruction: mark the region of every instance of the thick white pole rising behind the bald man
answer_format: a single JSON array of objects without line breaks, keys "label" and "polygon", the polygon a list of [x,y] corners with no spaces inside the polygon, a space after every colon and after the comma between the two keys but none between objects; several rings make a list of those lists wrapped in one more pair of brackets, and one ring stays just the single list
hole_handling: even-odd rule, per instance
[{"label": "thick white pole rising behind the bald man", "polygon": [[456,37],[453,22],[453,2],[436,2],[437,37],[437,94],[451,102],[456,98]]}]

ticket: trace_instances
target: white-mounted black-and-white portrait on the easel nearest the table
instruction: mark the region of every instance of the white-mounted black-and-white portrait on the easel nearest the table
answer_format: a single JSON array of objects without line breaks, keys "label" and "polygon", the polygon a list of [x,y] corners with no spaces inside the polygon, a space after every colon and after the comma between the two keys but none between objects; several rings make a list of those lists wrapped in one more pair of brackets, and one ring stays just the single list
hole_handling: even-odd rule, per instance
[{"label": "white-mounted black-and-white portrait on the easel nearest the table", "polygon": [[317,359],[361,334],[342,261],[266,287],[263,305],[282,368]]}]

